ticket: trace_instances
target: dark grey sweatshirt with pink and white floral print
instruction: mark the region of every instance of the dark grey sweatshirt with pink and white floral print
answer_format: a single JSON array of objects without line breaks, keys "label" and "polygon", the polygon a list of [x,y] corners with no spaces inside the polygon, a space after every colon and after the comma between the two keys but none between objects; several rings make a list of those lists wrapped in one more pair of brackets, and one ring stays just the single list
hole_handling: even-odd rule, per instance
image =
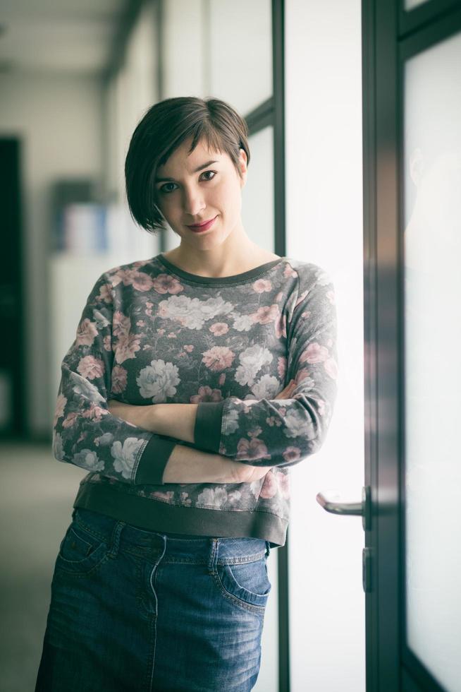
[{"label": "dark grey sweatshirt with pink and white floral print", "polygon": [[[276,399],[292,379],[292,398]],[[321,267],[281,257],[212,278],[160,253],[95,282],[61,364],[53,454],[88,471],[74,507],[278,547],[290,466],[321,448],[336,380],[334,288]],[[110,399],[197,403],[194,443],[125,422]],[[271,468],[250,483],[164,483],[176,444]]]}]

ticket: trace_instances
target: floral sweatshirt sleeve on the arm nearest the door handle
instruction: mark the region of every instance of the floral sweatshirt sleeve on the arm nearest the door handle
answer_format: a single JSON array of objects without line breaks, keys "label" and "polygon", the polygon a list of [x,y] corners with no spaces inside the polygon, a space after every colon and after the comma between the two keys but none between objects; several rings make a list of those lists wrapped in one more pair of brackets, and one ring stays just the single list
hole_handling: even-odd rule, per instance
[{"label": "floral sweatshirt sleeve on the arm nearest the door handle", "polygon": [[[266,390],[272,391],[259,400],[232,396],[201,402],[195,423],[199,448],[271,467],[295,465],[321,448],[337,393],[337,317],[331,278],[319,266],[309,266],[314,270],[301,278],[298,270],[288,299],[284,381],[269,378]],[[292,379],[296,388],[290,399],[271,398]]]}]

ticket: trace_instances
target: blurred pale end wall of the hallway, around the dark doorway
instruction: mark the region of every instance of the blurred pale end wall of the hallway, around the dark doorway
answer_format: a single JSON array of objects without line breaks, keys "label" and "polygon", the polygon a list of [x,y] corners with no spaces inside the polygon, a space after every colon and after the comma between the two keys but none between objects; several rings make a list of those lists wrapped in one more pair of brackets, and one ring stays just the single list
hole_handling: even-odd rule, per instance
[{"label": "blurred pale end wall of the hallway, around the dark doorway", "polygon": [[101,89],[90,77],[3,74],[0,101],[0,135],[23,145],[28,419],[33,434],[49,434],[49,192],[61,177],[101,177]]}]

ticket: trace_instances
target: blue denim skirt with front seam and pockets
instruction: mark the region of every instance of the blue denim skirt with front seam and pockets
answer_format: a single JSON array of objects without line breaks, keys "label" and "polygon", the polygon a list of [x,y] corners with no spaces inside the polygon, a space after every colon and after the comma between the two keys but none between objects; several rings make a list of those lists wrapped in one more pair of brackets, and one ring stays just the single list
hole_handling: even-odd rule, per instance
[{"label": "blue denim skirt with front seam and pockets", "polygon": [[171,537],[73,510],[35,692],[246,692],[271,590],[259,538]]}]

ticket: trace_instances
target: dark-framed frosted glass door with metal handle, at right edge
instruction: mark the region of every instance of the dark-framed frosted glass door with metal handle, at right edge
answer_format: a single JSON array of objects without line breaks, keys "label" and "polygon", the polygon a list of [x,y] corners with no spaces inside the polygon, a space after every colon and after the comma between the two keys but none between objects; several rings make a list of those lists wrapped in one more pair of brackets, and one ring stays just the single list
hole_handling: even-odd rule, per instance
[{"label": "dark-framed frosted glass door with metal handle, at right edge", "polygon": [[367,690],[461,692],[461,3],[362,7]]}]

